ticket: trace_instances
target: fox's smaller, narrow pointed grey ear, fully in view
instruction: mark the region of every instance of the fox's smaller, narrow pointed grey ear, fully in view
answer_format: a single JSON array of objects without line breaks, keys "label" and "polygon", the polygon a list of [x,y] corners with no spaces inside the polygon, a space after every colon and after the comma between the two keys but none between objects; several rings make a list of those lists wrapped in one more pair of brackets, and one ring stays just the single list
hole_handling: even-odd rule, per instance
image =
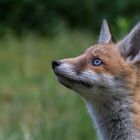
[{"label": "fox's smaller, narrow pointed grey ear, fully in view", "polygon": [[110,33],[107,20],[104,19],[102,22],[102,27],[101,27],[98,43],[107,44],[111,42],[113,42],[112,35]]}]

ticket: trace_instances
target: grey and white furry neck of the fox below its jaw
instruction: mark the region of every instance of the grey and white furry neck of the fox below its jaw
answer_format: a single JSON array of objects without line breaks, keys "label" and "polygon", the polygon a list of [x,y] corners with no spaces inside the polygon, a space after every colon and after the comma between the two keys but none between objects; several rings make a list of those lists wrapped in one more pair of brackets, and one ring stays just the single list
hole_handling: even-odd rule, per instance
[{"label": "grey and white furry neck of the fox below its jaw", "polygon": [[[132,99],[112,97],[101,101],[87,100],[87,107],[100,140],[138,140],[131,112]],[[101,97],[104,98],[104,97]]]}]

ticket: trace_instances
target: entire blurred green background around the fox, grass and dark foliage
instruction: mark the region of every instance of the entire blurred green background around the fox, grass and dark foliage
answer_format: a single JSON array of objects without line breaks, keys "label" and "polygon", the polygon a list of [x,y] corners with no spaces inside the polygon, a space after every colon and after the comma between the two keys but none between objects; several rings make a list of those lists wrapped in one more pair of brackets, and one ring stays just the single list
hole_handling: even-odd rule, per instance
[{"label": "entire blurred green background around the fox, grass and dark foliage", "polygon": [[82,99],[51,61],[96,42],[102,19],[119,40],[140,19],[139,0],[0,0],[0,140],[96,140]]}]

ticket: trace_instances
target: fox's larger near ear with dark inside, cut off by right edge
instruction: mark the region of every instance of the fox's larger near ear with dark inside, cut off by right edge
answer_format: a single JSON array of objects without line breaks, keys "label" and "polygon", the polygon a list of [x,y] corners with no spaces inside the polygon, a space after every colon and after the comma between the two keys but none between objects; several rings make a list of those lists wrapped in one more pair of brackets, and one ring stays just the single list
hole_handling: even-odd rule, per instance
[{"label": "fox's larger near ear with dark inside, cut off by right edge", "polygon": [[118,43],[121,55],[133,62],[140,61],[140,23]]}]

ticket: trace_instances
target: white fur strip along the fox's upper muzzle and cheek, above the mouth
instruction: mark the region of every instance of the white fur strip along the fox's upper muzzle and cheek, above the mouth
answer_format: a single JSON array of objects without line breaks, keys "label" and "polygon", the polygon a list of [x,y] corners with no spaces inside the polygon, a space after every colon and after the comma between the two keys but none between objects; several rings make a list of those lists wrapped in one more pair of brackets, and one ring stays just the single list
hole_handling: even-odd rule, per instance
[{"label": "white fur strip along the fox's upper muzzle and cheek, above the mouth", "polygon": [[[112,89],[114,86],[116,86],[116,81],[114,81],[114,77],[111,75],[98,74],[88,70],[77,74],[75,68],[72,65],[66,63],[61,64],[55,72],[60,76],[58,77],[58,80],[62,81],[63,83],[66,82],[66,84],[71,84],[71,82],[67,80],[70,79],[73,81],[81,81],[85,84],[87,83],[94,88]],[[62,78],[61,76],[66,77],[67,79]],[[73,83],[75,84],[75,82]],[[70,86],[75,86],[74,84]],[[119,85],[119,83],[117,85]]]}]

